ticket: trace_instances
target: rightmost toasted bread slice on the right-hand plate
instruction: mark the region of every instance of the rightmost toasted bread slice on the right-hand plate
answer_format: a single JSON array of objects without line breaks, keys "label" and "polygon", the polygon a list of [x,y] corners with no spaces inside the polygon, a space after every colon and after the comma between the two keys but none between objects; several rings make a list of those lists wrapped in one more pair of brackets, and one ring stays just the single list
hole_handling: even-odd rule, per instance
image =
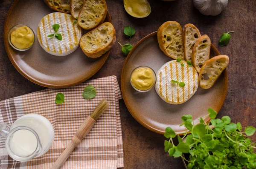
[{"label": "rightmost toasted bread slice on the right-hand plate", "polygon": [[201,88],[209,89],[227,68],[229,58],[227,55],[218,55],[208,60],[199,73],[199,83]]}]

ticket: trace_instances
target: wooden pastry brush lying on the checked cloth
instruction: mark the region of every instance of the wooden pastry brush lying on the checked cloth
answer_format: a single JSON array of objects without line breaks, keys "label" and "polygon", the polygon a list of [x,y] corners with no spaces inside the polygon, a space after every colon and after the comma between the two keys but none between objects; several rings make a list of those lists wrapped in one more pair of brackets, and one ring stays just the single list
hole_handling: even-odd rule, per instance
[{"label": "wooden pastry brush lying on the checked cloth", "polygon": [[103,112],[105,112],[106,109],[108,109],[108,106],[109,106],[109,103],[106,99],[101,100],[101,102],[95,108],[93,113],[90,116],[88,116],[84,120],[84,122],[81,124],[79,129],[76,131],[76,134],[73,136],[71,142],[69,143],[67,148],[64,150],[64,152],[61,154],[61,156],[55,161],[55,163],[51,169],[61,168],[61,166],[66,162],[67,158],[73,152],[75,147],[79,143],[81,143],[81,141],[84,139],[84,137],[93,128],[96,120],[102,115]]}]

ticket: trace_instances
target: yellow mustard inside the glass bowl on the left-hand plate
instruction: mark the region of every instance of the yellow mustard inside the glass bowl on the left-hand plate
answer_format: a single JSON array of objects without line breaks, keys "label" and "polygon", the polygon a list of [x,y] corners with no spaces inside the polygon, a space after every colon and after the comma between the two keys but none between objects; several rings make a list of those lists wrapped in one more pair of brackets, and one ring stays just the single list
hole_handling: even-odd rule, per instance
[{"label": "yellow mustard inside the glass bowl on the left-hand plate", "polygon": [[34,39],[32,30],[27,26],[15,29],[11,35],[11,42],[18,49],[29,48],[33,44]]}]

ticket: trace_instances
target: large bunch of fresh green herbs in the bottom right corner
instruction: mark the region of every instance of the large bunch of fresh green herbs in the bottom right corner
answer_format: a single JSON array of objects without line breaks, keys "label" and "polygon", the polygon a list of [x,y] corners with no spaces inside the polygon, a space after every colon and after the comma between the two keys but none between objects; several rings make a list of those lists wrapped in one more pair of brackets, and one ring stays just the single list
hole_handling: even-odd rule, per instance
[{"label": "large bunch of fresh green herbs in the bottom right corner", "polygon": [[[209,123],[200,118],[200,123],[194,124],[192,115],[181,117],[180,126],[187,131],[183,137],[177,136],[177,146],[173,143],[176,133],[171,127],[166,128],[164,136],[169,141],[165,140],[164,149],[169,156],[186,160],[188,169],[255,169],[256,153],[253,151],[256,147],[247,136],[253,135],[256,129],[247,126],[242,132],[241,123],[231,123],[228,116],[215,119],[217,112],[213,109],[208,109],[208,113]],[[187,159],[186,153],[189,154]]]}]

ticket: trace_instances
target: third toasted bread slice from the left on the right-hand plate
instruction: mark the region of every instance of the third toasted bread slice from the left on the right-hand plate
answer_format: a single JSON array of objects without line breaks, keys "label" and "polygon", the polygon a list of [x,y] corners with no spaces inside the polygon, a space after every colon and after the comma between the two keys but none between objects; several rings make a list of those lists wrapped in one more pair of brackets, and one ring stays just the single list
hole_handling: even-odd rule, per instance
[{"label": "third toasted bread slice from the left on the right-hand plate", "polygon": [[210,59],[211,40],[205,34],[201,36],[195,43],[192,50],[192,63],[196,71],[199,73],[204,63]]}]

